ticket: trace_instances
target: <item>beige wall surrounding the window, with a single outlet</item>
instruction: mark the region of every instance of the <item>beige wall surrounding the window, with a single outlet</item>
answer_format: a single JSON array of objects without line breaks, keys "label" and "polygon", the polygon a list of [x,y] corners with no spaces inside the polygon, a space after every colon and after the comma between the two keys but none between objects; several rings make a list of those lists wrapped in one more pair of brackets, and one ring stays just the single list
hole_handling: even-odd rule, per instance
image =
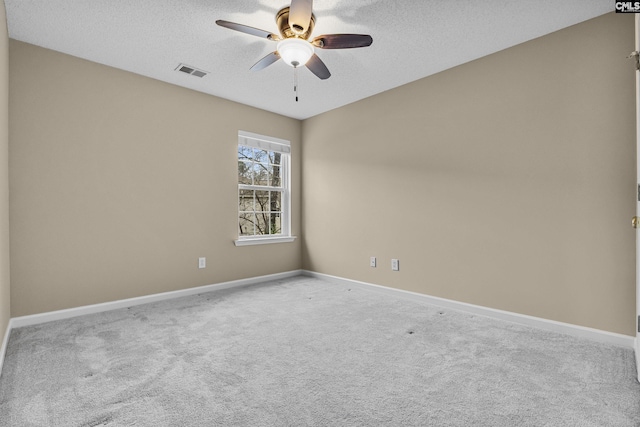
[{"label": "beige wall surrounding the window, with a single outlet", "polygon": [[300,268],[300,240],[233,244],[238,130],[291,141],[300,233],[299,121],[14,40],[10,60],[13,316]]}]

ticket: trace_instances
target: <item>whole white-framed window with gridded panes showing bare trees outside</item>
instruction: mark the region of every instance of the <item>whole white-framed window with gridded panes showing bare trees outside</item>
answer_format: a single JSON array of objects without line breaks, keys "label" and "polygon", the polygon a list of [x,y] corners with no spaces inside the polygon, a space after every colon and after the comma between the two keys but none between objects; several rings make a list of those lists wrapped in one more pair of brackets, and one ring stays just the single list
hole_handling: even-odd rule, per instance
[{"label": "whole white-framed window with gridded panes showing bare trees outside", "polygon": [[289,141],[238,132],[237,246],[291,242]]}]

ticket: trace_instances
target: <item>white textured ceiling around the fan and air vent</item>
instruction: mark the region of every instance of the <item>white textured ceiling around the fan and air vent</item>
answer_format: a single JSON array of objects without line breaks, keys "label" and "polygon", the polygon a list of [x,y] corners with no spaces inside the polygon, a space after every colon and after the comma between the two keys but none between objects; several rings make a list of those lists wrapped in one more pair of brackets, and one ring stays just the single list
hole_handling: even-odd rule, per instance
[{"label": "white textured ceiling around the fan and air vent", "polygon": [[[304,119],[613,11],[611,0],[315,0],[321,34],[373,45],[316,49],[320,80],[282,61],[249,71],[276,43],[215,24],[278,33],[287,0],[5,0],[9,36],[243,104]],[[184,63],[210,72],[175,71]]]}]

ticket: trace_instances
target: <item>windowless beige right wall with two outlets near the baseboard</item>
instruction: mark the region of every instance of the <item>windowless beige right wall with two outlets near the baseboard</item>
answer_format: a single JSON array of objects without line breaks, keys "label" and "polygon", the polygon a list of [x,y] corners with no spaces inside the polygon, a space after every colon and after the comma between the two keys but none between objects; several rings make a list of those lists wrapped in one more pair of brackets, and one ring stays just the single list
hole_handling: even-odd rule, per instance
[{"label": "windowless beige right wall with two outlets near the baseboard", "polygon": [[633,39],[612,13],[305,121],[304,268],[634,335]]}]

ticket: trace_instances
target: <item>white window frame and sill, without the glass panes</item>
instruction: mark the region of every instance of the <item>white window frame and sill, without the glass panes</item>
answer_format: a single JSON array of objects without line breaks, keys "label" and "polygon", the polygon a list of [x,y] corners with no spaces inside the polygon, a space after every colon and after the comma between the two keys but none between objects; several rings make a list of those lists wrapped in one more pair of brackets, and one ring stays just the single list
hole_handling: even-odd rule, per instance
[{"label": "white window frame and sill, without the glass panes", "polygon": [[[253,235],[240,236],[234,241],[236,246],[263,245],[269,243],[289,243],[296,237],[291,235],[291,143],[284,139],[271,136],[259,135],[257,133],[238,131],[238,147],[253,147],[267,151],[276,151],[280,157],[280,179],[282,182],[282,217],[281,232],[279,235]],[[236,151],[237,153],[237,151]],[[237,159],[237,154],[236,154]],[[240,190],[256,190],[261,186],[240,184],[238,182],[238,197],[236,199],[237,215],[236,221],[240,219]],[[238,222],[236,222],[238,224]]]}]

